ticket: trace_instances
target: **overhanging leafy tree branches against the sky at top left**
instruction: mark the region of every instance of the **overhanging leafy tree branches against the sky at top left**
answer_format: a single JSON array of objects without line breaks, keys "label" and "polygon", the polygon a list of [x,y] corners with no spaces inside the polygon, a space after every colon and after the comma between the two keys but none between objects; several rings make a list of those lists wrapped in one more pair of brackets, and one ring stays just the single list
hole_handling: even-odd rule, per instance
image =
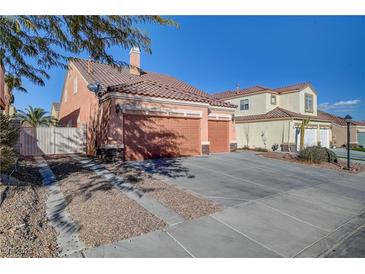
[{"label": "overhanging leafy tree branches against the sky at top left", "polygon": [[175,25],[160,16],[0,16],[0,63],[10,90],[26,91],[23,79],[44,86],[51,67],[66,68],[78,54],[125,66],[108,53],[134,46],[151,53],[141,24]]}]

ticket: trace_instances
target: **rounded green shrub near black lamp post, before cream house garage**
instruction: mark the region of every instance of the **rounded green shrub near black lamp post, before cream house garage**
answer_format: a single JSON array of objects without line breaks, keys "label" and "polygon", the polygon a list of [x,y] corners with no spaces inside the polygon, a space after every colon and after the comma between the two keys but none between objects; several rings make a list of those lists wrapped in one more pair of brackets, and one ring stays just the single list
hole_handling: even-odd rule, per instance
[{"label": "rounded green shrub near black lamp post, before cream house garage", "polygon": [[299,159],[316,164],[321,162],[337,163],[336,154],[332,150],[321,146],[302,149],[299,152]]}]

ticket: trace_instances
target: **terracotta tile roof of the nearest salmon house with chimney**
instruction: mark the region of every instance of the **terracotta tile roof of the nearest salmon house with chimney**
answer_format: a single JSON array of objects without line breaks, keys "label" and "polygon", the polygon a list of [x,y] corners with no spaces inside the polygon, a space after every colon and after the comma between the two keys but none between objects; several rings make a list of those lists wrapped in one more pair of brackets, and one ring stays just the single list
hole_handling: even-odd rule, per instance
[{"label": "terracotta tile roof of the nearest salmon house with chimney", "polygon": [[208,103],[212,106],[236,108],[237,106],[221,101],[192,85],[154,72],[142,71],[141,75],[129,73],[128,68],[91,62],[92,73],[88,72],[88,60],[74,59],[72,63],[89,83],[98,81],[103,92],[121,92],[142,96],[159,97],[191,102]]}]

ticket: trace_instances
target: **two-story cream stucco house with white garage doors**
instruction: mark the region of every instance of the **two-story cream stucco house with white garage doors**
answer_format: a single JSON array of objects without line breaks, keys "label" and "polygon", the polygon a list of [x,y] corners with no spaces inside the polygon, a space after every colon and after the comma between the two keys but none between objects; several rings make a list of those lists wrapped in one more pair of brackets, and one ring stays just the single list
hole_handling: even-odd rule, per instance
[{"label": "two-story cream stucco house with white garage doors", "polygon": [[309,83],[282,88],[254,86],[215,95],[237,105],[235,111],[238,148],[266,148],[297,151],[300,125],[309,117],[304,145],[330,147],[331,121],[317,111],[317,92]]}]

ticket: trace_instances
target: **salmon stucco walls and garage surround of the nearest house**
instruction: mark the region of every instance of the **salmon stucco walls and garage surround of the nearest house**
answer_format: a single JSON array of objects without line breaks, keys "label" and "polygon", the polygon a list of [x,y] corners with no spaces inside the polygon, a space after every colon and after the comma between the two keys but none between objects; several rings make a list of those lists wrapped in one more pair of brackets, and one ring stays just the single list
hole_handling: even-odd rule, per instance
[{"label": "salmon stucco walls and garage surround of the nearest house", "polygon": [[[77,78],[77,93],[74,93],[74,79]],[[64,89],[60,102],[59,120],[63,126],[87,127],[87,153],[94,154],[95,147],[102,145],[123,144],[123,114],[116,113],[116,105],[143,109],[168,109],[201,112],[200,136],[201,143],[208,142],[208,105],[190,104],[172,100],[137,97],[115,98],[112,95],[105,97],[99,104],[99,99],[87,89],[87,82],[71,64],[65,78]],[[67,100],[65,100],[67,91]],[[156,102],[156,100],[158,102]],[[214,110],[215,113],[232,114],[232,111]],[[151,112],[151,114],[153,113]],[[230,141],[235,142],[235,127],[230,120]]]}]

